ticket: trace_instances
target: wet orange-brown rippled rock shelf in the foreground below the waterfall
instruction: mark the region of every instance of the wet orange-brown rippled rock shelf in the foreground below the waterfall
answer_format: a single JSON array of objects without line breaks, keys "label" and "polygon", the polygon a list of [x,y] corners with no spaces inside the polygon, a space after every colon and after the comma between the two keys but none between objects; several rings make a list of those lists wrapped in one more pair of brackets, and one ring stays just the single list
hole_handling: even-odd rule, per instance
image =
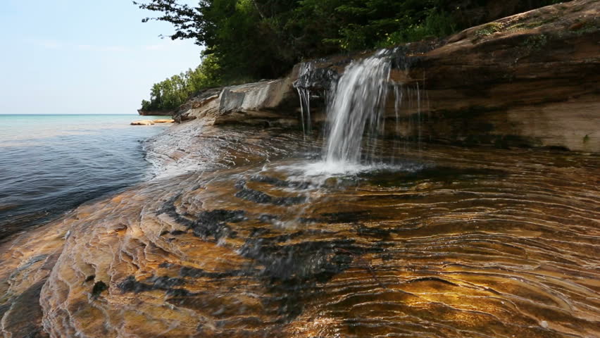
[{"label": "wet orange-brown rippled rock shelf in the foreground below the waterfall", "polygon": [[323,180],[303,174],[317,161],[303,152],[246,156],[294,149],[292,137],[211,128],[198,147],[245,149],[228,153],[235,162],[141,184],[3,244],[2,330],[600,334],[596,156],[409,144],[388,169]]}]

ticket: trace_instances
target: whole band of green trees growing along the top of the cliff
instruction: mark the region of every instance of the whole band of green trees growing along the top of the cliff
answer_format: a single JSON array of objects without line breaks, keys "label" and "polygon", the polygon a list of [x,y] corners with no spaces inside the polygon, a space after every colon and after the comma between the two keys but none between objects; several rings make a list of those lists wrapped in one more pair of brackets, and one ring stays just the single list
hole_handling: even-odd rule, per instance
[{"label": "whole band of green trees growing along the top of the cliff", "polygon": [[[171,39],[204,46],[196,70],[155,84],[150,108],[170,109],[190,93],[215,84],[280,77],[303,59],[428,37],[444,37],[489,20],[473,8],[504,6],[503,15],[556,0],[146,0],[140,8],[172,23]],[[475,13],[475,12],[473,12]],[[491,20],[494,20],[492,18]],[[209,58],[210,56],[210,58]],[[204,65],[210,63],[210,65]],[[202,80],[199,80],[202,79]]]}]

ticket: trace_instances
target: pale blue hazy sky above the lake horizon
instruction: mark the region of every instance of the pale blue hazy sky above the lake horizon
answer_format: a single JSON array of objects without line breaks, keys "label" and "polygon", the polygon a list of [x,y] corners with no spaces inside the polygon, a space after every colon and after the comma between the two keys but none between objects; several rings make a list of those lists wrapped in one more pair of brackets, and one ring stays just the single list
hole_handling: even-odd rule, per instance
[{"label": "pale blue hazy sky above the lake horizon", "polygon": [[131,0],[0,0],[0,114],[132,113],[154,82],[200,62]]}]

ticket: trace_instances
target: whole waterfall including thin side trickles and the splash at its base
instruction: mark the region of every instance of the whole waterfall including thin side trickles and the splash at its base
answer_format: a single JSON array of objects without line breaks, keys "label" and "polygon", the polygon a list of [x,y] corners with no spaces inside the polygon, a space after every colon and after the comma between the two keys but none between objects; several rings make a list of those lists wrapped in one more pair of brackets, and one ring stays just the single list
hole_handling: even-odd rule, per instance
[{"label": "whole waterfall including thin side trickles and the splash at its base", "polygon": [[[302,130],[311,134],[311,95],[320,96],[326,104],[322,161],[308,165],[308,173],[341,174],[401,165],[396,151],[406,152],[407,142],[415,140],[420,150],[423,137],[423,86],[418,81],[394,82],[389,79],[392,67],[405,73],[411,60],[401,49],[382,49],[361,60],[351,61],[344,73],[302,63],[294,82],[300,99]],[[382,146],[379,137],[385,132],[385,109],[388,94],[394,95],[394,113],[388,121],[395,123],[394,144]],[[390,149],[390,146],[392,149]],[[396,160],[400,161],[396,163]]]}]

